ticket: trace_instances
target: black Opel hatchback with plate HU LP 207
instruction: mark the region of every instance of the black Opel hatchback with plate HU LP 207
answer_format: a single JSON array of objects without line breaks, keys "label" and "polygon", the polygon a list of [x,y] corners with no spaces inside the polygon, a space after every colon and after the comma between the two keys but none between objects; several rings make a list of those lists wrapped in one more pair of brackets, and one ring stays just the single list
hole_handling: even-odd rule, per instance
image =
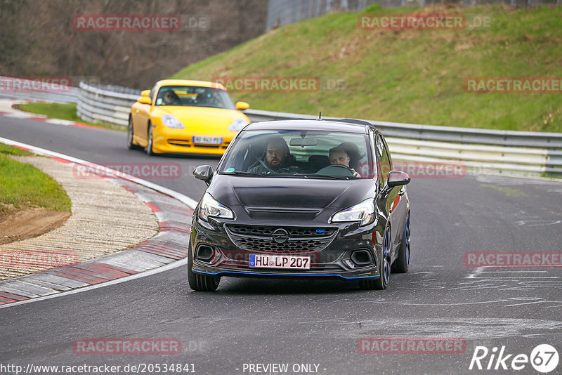
[{"label": "black Opel hatchback with plate HU LP 207", "polygon": [[218,163],[193,172],[209,187],[195,209],[188,281],[223,276],[340,277],[386,289],[410,263],[410,177],[392,170],[384,137],[355,119],[247,125]]}]

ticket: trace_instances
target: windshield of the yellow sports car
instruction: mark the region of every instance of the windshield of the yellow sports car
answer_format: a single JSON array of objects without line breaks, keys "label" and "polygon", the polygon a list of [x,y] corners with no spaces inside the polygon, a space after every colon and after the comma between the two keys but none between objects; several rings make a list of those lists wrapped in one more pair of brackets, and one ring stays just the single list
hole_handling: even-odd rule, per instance
[{"label": "windshield of the yellow sports car", "polygon": [[233,100],[226,91],[203,86],[162,86],[156,96],[155,105],[235,109]]}]

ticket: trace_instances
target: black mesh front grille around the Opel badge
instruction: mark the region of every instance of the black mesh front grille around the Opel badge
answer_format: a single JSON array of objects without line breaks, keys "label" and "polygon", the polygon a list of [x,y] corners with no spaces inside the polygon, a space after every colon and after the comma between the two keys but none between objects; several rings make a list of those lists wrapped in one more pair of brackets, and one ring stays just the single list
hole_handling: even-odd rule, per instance
[{"label": "black mesh front grille around the Opel badge", "polygon": [[[337,230],[334,228],[277,227],[266,225],[226,225],[228,235],[240,249],[251,251],[320,251],[325,249]],[[275,241],[274,233],[285,230],[287,239]],[[285,233],[283,232],[283,233]]]}]

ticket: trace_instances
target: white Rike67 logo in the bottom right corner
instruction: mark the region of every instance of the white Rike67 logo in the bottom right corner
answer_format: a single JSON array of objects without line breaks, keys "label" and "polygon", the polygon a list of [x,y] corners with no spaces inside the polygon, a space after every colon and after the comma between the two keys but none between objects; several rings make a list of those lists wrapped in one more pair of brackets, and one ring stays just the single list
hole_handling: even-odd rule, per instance
[{"label": "white Rike67 logo in the bottom right corner", "polygon": [[505,346],[499,349],[497,346],[489,350],[485,346],[476,346],[469,370],[522,370],[528,364],[542,374],[547,374],[558,366],[558,351],[549,344],[540,344],[532,349],[530,355],[526,354],[507,354]]}]

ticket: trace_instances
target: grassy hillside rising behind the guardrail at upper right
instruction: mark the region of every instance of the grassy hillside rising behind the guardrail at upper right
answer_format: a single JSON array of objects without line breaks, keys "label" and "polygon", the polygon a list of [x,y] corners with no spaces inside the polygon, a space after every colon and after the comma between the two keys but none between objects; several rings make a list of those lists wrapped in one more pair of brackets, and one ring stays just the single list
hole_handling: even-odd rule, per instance
[{"label": "grassy hillside rising behind the guardrail at upper right", "polygon": [[[412,13],[417,8],[362,13]],[[468,93],[468,77],[562,77],[562,7],[426,8],[488,15],[488,29],[364,30],[332,13],[248,41],[174,78],[319,77],[313,93],[232,93],[252,108],[487,129],[562,132],[560,93]],[[327,87],[334,82],[344,87]]]}]

